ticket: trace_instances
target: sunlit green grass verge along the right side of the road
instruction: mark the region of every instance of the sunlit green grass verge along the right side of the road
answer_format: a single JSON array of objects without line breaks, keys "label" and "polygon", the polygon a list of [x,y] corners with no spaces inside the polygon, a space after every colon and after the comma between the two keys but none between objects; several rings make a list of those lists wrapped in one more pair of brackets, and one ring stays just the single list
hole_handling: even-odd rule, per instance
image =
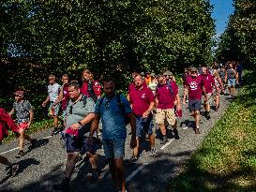
[{"label": "sunlit green grass verge along the right side of the road", "polygon": [[167,191],[256,191],[256,74]]}]

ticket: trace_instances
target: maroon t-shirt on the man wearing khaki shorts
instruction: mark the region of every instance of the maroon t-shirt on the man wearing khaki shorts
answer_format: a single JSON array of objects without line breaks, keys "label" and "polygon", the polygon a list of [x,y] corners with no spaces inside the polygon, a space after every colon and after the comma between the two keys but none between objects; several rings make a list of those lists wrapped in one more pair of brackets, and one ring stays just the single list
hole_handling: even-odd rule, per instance
[{"label": "maroon t-shirt on the man wearing khaki shorts", "polygon": [[[170,90],[170,86],[172,90]],[[158,97],[158,109],[167,110],[174,108],[175,97],[178,94],[178,85],[175,81],[168,84],[158,85],[156,97]]]}]

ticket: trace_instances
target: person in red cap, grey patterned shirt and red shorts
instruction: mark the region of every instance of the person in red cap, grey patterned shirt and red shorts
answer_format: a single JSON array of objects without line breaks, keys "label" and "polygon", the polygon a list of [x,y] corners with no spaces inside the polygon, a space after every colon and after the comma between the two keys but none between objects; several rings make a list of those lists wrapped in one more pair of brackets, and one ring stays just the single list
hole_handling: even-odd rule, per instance
[{"label": "person in red cap, grey patterned shirt and red shorts", "polygon": [[25,155],[23,148],[24,148],[24,140],[28,140],[31,143],[31,148],[36,146],[36,139],[31,139],[28,135],[25,134],[25,130],[31,126],[34,117],[34,111],[29,103],[29,101],[24,100],[24,92],[23,91],[16,91],[15,95],[15,102],[13,103],[12,110],[9,112],[9,115],[16,113],[16,121],[18,125],[18,132],[19,132],[19,153],[16,155],[16,158],[20,158],[21,156]]}]

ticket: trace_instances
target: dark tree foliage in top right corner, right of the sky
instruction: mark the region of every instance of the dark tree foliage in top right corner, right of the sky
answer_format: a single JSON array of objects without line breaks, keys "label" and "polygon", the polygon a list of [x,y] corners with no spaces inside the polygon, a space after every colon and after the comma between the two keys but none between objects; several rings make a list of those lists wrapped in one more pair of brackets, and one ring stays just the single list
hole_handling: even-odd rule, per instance
[{"label": "dark tree foliage in top right corner, right of the sky", "polygon": [[220,38],[218,58],[256,64],[256,2],[234,0],[234,13]]}]

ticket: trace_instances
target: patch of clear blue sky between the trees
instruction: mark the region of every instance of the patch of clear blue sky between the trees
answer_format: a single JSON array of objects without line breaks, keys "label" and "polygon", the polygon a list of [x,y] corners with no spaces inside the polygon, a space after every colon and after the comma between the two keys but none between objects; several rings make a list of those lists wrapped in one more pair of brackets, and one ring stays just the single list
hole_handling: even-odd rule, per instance
[{"label": "patch of clear blue sky between the trees", "polygon": [[233,13],[233,0],[210,0],[214,6],[212,17],[216,23],[216,37],[224,31],[229,21],[229,15]]}]

